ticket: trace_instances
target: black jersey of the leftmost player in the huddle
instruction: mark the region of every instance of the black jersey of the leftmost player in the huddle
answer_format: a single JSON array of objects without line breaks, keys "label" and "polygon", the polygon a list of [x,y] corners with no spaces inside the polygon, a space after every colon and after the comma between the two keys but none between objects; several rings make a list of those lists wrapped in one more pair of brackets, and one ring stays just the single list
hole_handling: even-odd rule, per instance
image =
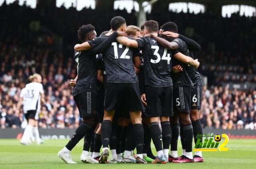
[{"label": "black jersey of the leftmost player in the huddle", "polygon": [[96,55],[91,50],[74,53],[77,63],[78,79],[73,89],[73,96],[84,91],[92,91],[97,94]]}]

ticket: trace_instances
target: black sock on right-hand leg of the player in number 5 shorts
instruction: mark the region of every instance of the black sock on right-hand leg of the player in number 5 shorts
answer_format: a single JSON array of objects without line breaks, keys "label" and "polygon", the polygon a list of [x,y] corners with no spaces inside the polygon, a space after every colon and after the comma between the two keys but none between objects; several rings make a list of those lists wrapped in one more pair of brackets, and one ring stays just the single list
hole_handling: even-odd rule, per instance
[{"label": "black sock on right-hand leg of the player in number 5 shorts", "polygon": [[187,124],[182,126],[183,130],[183,140],[186,147],[186,152],[192,151],[192,141],[193,141],[193,127],[192,124]]}]

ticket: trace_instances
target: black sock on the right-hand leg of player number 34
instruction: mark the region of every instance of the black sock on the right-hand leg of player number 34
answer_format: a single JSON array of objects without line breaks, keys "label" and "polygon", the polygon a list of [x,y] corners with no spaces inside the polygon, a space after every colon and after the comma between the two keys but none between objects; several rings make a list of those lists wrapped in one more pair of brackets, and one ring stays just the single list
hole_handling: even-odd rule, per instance
[{"label": "black sock on the right-hand leg of player number 34", "polygon": [[162,140],[163,140],[163,149],[169,149],[172,139],[172,130],[170,126],[170,121],[161,122],[162,126]]}]

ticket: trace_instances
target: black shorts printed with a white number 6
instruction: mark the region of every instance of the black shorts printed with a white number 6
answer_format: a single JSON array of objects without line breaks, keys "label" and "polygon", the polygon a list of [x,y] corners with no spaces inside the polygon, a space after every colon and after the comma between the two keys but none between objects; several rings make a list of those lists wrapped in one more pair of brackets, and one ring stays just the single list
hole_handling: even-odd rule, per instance
[{"label": "black shorts printed with a white number 6", "polygon": [[201,85],[196,86],[191,92],[191,109],[201,109],[202,105],[203,87]]}]

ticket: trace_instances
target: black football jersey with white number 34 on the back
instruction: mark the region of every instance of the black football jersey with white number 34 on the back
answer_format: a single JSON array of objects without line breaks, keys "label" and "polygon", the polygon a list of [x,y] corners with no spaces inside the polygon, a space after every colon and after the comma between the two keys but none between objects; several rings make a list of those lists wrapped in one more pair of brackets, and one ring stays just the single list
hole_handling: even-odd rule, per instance
[{"label": "black football jersey with white number 34 on the back", "polygon": [[145,85],[152,87],[172,86],[171,52],[154,38],[142,37],[136,40],[142,50]]}]

